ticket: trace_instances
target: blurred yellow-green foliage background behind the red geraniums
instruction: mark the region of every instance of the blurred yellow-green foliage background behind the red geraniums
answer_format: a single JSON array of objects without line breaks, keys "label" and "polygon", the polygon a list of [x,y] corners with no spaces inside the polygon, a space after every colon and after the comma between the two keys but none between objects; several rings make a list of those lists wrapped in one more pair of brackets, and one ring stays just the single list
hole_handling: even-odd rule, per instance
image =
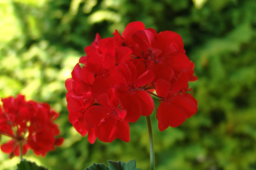
[{"label": "blurred yellow-green foliage background behind the red geraniums", "polygon": [[[255,0],[0,0],[0,97],[22,93],[49,102],[66,138],[46,157],[24,158],[50,170],[83,170],[109,159],[136,159],[149,169],[144,117],[130,124],[129,143],[90,144],[68,122],[66,108],[64,82],[84,47],[96,33],[112,37],[132,21],[179,33],[199,78],[190,83],[196,115],[160,132],[152,114],[156,170],[256,169]],[[0,170],[18,162],[0,152]]]}]

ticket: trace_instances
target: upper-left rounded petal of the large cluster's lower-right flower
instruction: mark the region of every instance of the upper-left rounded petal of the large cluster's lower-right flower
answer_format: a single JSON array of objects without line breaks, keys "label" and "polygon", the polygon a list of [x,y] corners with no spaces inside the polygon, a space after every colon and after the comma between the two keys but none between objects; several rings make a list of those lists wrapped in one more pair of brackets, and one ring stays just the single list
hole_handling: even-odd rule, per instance
[{"label": "upper-left rounded petal of the large cluster's lower-right flower", "polygon": [[171,83],[166,80],[158,79],[156,81],[156,94],[160,97],[166,97],[171,89]]}]

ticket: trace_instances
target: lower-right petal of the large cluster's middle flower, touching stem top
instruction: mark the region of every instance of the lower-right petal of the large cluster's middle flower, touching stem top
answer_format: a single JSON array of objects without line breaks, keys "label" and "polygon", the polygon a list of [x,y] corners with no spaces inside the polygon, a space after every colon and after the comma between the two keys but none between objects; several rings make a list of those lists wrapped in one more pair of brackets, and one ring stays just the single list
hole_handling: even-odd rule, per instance
[{"label": "lower-right petal of the large cluster's middle flower, touching stem top", "polygon": [[141,115],[148,116],[151,115],[151,113],[154,110],[154,100],[152,97],[148,94],[146,91],[136,91],[135,94],[138,99],[140,100],[141,104]]}]

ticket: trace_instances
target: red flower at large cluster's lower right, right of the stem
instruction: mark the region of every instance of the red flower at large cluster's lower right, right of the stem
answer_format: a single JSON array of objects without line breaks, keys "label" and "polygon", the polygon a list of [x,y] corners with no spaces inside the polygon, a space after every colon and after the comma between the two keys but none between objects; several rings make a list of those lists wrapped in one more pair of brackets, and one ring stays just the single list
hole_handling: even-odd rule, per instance
[{"label": "red flower at large cluster's lower right, right of the stem", "polygon": [[[160,131],[180,126],[197,111],[197,101],[186,92],[179,93],[188,85],[188,77],[182,72],[176,82],[171,83],[159,79],[156,81],[156,93],[162,97],[157,110],[158,128]],[[171,89],[171,90],[170,90]]]}]

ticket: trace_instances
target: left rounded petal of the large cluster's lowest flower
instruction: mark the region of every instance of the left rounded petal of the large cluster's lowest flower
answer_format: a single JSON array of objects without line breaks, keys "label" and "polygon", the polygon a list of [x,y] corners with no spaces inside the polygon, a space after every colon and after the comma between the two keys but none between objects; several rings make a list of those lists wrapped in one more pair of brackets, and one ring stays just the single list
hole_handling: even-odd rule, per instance
[{"label": "left rounded petal of the large cluster's lowest flower", "polygon": [[92,128],[100,123],[107,116],[108,109],[102,106],[91,106],[84,113],[85,122]]}]

